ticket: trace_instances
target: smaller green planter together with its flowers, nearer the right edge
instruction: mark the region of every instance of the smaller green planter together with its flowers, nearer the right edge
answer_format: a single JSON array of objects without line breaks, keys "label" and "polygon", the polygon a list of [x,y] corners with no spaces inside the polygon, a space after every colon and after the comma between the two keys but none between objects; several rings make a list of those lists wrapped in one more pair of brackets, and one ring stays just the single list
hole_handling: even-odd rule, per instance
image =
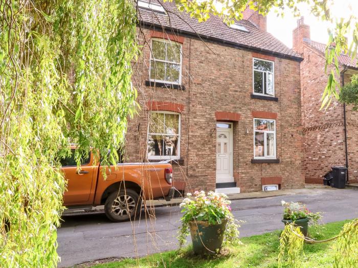
[{"label": "smaller green planter together with its flowers, nearer the right edge", "polygon": [[309,211],[306,205],[301,203],[281,201],[283,210],[283,220],[282,222],[287,225],[294,223],[296,226],[300,227],[301,233],[307,237],[308,234],[308,223],[317,224],[318,220],[321,218],[320,212],[313,213]]}]

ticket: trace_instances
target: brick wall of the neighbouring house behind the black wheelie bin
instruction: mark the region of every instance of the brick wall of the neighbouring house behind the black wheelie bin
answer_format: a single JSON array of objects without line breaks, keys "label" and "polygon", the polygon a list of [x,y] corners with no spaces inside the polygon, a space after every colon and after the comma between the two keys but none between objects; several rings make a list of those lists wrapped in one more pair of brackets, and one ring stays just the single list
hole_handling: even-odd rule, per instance
[{"label": "brick wall of the neighbouring house behind the black wheelie bin", "polygon": [[[306,183],[322,183],[325,175],[334,165],[346,165],[343,105],[333,101],[328,109],[320,110],[322,94],[327,84],[324,55],[302,46],[301,102],[302,125],[305,133],[304,174]],[[349,81],[346,75],[345,82]],[[347,107],[347,142],[350,181],[358,178],[358,137],[355,126],[358,113]]]}]

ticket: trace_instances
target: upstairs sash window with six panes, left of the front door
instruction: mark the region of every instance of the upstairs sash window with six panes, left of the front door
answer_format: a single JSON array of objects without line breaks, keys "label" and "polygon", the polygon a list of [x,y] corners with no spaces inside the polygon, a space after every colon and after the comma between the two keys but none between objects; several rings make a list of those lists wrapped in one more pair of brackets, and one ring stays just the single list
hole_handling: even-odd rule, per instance
[{"label": "upstairs sash window with six panes, left of the front door", "polygon": [[182,83],[182,45],[164,39],[151,40],[150,81]]}]

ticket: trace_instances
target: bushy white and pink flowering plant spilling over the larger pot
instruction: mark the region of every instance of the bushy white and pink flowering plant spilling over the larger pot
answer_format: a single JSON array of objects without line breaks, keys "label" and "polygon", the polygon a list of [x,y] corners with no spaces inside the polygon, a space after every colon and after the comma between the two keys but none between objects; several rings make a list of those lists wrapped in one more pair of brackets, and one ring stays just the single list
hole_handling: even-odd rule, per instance
[{"label": "bushy white and pink flowering plant spilling over the larger pot", "polygon": [[178,236],[180,247],[186,242],[189,235],[189,224],[192,221],[208,221],[210,225],[221,224],[221,220],[226,218],[228,223],[224,234],[225,245],[236,245],[239,243],[239,222],[235,220],[231,213],[231,201],[226,194],[209,191],[208,195],[204,191],[195,191],[194,200],[190,199],[191,194],[187,194],[180,204],[184,215],[181,218],[182,226]]}]

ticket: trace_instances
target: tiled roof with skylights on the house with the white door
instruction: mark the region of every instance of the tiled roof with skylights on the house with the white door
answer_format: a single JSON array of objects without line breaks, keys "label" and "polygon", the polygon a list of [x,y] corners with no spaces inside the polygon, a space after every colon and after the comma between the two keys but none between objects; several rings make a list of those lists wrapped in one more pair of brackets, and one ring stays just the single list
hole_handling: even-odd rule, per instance
[{"label": "tiled roof with skylights on the house with the white door", "polygon": [[[151,3],[155,3],[154,1],[156,0],[151,0]],[[272,34],[259,30],[248,20],[238,21],[241,26],[249,31],[244,32],[228,27],[217,16],[212,15],[206,22],[199,23],[197,19],[190,17],[186,12],[177,11],[173,2],[162,3],[162,5],[167,10],[167,14],[140,9],[139,20],[141,24],[164,28],[167,32],[171,29],[174,33],[198,35],[203,40],[214,40],[263,53],[302,60],[299,54],[288,48]]]}]

